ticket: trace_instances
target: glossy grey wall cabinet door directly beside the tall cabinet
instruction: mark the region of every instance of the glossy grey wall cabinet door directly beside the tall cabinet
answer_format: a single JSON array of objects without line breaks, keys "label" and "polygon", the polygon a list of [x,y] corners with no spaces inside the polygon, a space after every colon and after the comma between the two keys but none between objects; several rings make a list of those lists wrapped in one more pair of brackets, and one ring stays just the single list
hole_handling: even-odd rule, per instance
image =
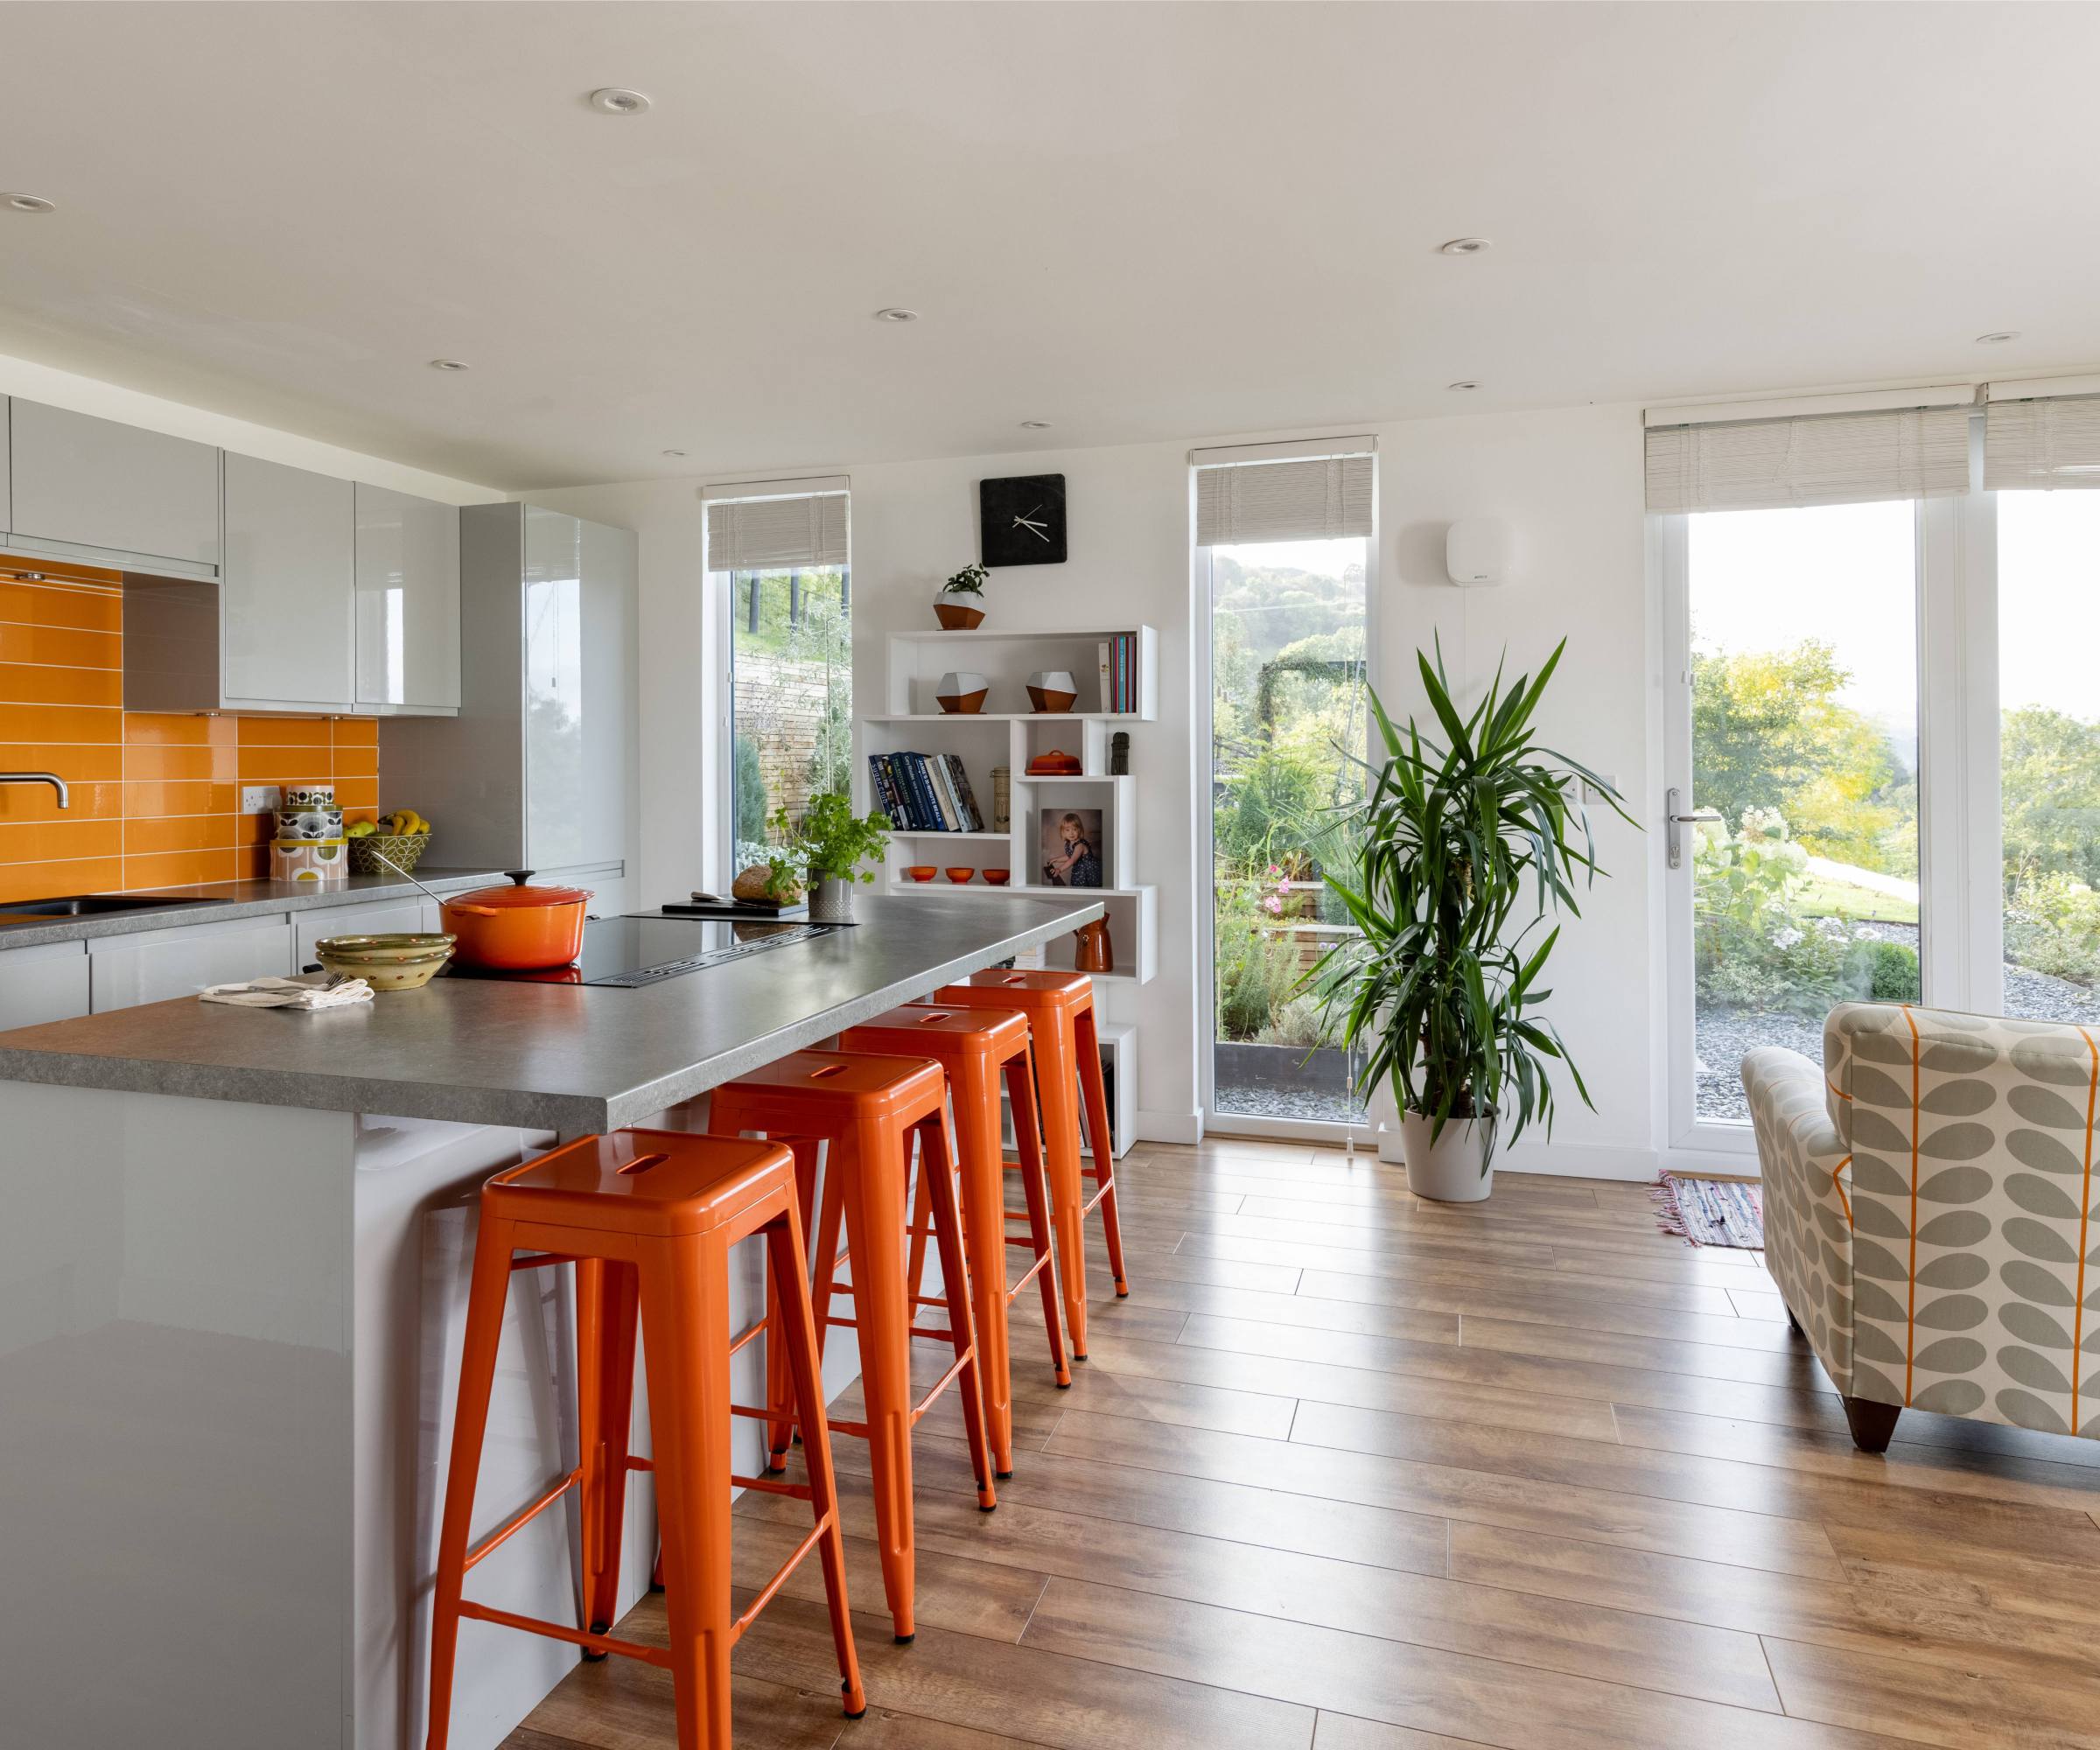
[{"label": "glossy grey wall cabinet door directly beside the tall cabinet", "polygon": [[357,704],[460,708],[460,508],[363,481]]}]

